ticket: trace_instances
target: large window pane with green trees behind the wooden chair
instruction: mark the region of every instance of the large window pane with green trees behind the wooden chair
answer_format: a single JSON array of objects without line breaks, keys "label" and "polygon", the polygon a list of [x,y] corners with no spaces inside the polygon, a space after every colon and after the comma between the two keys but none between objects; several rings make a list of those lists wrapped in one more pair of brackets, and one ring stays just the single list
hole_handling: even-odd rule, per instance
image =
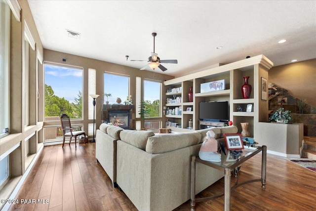
[{"label": "large window pane with green trees behind the wooden chair", "polygon": [[66,113],[82,118],[82,69],[44,64],[45,121]]}]

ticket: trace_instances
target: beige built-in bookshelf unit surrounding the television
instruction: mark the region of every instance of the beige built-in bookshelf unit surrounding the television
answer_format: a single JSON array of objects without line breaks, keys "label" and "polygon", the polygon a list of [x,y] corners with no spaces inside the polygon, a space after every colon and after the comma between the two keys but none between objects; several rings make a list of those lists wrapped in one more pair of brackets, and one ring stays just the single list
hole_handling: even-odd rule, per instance
[{"label": "beige built-in bookshelf unit surrounding the television", "polygon": [[[182,112],[170,115],[165,112],[166,127],[174,131],[192,131],[189,121],[193,121],[193,130],[199,129],[199,103],[209,101],[228,101],[230,120],[241,132],[240,123],[248,122],[251,136],[255,136],[256,122],[268,121],[268,99],[262,99],[261,80],[268,80],[268,70],[273,63],[264,55],[258,55],[230,64],[204,70],[187,76],[165,81],[167,91],[165,108],[173,110],[181,107]],[[249,76],[248,83],[252,86],[249,99],[243,99],[241,86],[243,77]],[[223,81],[224,80],[224,81]],[[206,91],[201,89],[201,84],[221,81],[224,82],[222,90]],[[193,102],[189,102],[188,93],[193,87]],[[171,99],[171,100],[170,100]],[[178,100],[177,100],[178,99]],[[247,105],[251,104],[251,111],[246,112]],[[242,108],[242,111],[238,110]],[[175,123],[175,124],[168,124]],[[173,127],[176,126],[176,127]]]}]

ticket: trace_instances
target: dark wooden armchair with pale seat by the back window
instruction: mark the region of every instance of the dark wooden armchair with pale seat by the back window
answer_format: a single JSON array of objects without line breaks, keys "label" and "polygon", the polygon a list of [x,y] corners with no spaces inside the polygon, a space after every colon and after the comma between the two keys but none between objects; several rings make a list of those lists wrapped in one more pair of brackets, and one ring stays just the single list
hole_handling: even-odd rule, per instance
[{"label": "dark wooden armchair with pale seat by the back window", "polygon": [[[60,124],[61,124],[61,129],[63,131],[63,147],[64,147],[64,144],[65,144],[65,138],[66,137],[70,137],[70,140],[69,140],[69,145],[71,143],[71,139],[72,137],[75,137],[75,146],[77,148],[77,136],[79,135],[84,135],[84,138],[85,138],[85,132],[84,131],[73,131],[73,128],[71,127],[71,124],[70,124],[70,118],[67,114],[62,114],[61,117],[60,117]],[[85,141],[83,141],[84,144],[85,144]]]}]

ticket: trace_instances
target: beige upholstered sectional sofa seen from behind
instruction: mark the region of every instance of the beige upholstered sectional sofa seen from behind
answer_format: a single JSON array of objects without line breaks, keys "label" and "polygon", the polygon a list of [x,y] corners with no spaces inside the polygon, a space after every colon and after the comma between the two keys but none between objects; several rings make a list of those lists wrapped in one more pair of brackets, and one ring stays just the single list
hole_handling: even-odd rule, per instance
[{"label": "beige upholstered sectional sofa seen from behind", "polygon": [[[190,157],[198,155],[208,130],[219,141],[224,133],[237,133],[235,126],[155,134],[101,124],[96,159],[138,210],[171,211],[190,199]],[[224,172],[197,163],[196,175],[199,193]]]}]

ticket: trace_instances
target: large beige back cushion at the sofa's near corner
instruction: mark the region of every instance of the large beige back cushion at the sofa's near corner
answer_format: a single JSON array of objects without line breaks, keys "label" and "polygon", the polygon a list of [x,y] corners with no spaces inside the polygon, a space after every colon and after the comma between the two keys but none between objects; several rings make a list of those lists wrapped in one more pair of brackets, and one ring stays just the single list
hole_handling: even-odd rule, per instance
[{"label": "large beige back cushion at the sofa's near corner", "polygon": [[148,138],[146,152],[158,154],[198,144],[201,139],[199,132],[158,134]]}]

